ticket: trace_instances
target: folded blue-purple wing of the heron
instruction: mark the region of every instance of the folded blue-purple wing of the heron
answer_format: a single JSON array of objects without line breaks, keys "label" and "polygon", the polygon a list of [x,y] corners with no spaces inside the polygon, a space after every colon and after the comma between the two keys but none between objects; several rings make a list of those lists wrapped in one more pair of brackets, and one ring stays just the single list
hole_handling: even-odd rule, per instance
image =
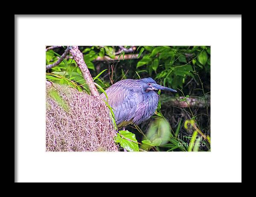
[{"label": "folded blue-purple wing of the heron", "polygon": [[[137,106],[143,101],[141,87],[134,80],[122,80],[117,82],[106,90],[108,95],[108,104],[114,109],[116,124],[130,121],[134,118]],[[101,97],[105,98],[102,94]]]}]

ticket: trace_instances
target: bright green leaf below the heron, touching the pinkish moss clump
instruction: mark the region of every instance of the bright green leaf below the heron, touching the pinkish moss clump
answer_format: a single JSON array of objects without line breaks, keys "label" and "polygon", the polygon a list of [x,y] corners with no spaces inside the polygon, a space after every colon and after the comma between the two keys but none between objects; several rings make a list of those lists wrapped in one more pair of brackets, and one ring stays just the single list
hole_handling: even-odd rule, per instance
[{"label": "bright green leaf below the heron, touching the pinkish moss clump", "polygon": [[[120,136],[120,138],[118,137]],[[129,132],[128,130],[121,130],[117,133],[116,142],[120,143],[122,148],[125,148],[127,151],[139,151],[139,145],[134,133]]]}]

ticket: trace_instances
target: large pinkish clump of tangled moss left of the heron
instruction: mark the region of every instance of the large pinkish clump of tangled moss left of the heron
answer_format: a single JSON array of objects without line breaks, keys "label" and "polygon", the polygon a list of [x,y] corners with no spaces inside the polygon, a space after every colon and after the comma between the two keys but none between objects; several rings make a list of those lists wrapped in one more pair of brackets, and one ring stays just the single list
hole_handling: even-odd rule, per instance
[{"label": "large pinkish clump of tangled moss left of the heron", "polygon": [[67,85],[46,85],[46,151],[117,151],[108,107]]}]

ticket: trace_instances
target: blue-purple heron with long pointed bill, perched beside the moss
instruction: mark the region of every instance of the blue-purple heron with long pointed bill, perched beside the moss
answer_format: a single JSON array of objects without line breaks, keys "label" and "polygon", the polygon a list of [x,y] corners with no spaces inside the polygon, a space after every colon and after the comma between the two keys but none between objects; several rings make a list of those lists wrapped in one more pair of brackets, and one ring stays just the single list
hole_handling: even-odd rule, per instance
[{"label": "blue-purple heron with long pointed bill, perched beside the moss", "polygon": [[[139,125],[153,116],[159,100],[157,90],[177,92],[157,84],[151,77],[124,79],[105,90],[108,104],[113,108],[117,127],[125,130],[127,125]],[[100,97],[107,101],[104,93]]]}]

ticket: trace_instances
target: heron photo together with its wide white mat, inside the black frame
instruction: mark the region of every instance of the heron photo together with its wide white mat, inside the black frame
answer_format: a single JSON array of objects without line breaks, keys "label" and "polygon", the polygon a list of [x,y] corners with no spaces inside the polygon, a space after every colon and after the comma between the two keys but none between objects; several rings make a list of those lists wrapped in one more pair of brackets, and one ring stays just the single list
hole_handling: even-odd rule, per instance
[{"label": "heron photo together with its wide white mat, inside the black frame", "polygon": [[15,15],[15,49],[15,182],[241,182],[241,15]]}]

